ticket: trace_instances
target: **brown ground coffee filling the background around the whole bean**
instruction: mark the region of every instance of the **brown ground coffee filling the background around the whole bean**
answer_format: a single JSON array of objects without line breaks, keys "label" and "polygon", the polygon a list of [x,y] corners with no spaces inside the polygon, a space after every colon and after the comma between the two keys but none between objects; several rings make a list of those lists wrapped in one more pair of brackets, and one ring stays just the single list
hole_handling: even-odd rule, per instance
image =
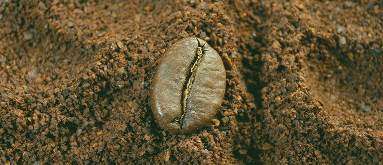
[{"label": "brown ground coffee filling the background around the whole bean", "polygon": [[[1,0],[0,164],[383,164],[383,2]],[[177,40],[226,69],[212,122],[148,104]]]}]

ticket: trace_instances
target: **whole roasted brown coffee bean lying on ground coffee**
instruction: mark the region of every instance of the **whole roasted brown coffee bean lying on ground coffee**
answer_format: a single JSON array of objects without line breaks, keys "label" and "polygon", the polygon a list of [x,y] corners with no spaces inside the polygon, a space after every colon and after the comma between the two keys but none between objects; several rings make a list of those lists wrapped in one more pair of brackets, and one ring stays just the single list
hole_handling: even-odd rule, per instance
[{"label": "whole roasted brown coffee bean lying on ground coffee", "polygon": [[160,59],[150,104],[161,128],[191,133],[210,122],[225,93],[226,73],[218,53],[206,41],[177,41]]}]

